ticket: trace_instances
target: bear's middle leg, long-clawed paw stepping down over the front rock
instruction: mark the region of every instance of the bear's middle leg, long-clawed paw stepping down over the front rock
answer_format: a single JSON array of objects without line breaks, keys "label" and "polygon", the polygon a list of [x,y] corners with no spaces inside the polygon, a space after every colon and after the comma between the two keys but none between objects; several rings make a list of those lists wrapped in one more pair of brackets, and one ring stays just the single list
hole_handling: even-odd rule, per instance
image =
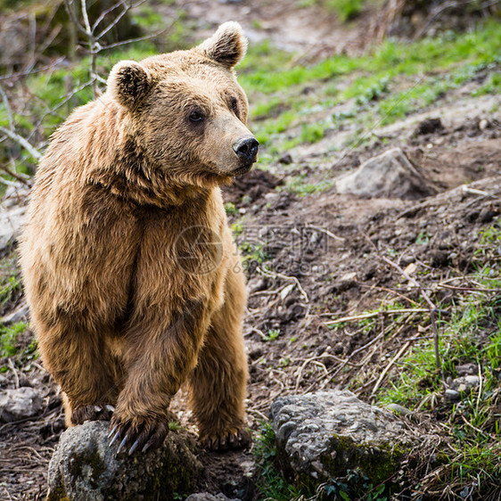
[{"label": "bear's middle leg, long-clawed paw stepping down over the front rock", "polygon": [[127,333],[127,382],[120,392],[110,433],[111,443],[120,440],[119,451],[130,446],[132,454],[163,443],[168,432],[168,405],[197,363],[209,318],[206,301],[193,300],[182,313],[171,317],[167,329],[145,335],[145,330],[152,330],[152,323],[144,319]]}]

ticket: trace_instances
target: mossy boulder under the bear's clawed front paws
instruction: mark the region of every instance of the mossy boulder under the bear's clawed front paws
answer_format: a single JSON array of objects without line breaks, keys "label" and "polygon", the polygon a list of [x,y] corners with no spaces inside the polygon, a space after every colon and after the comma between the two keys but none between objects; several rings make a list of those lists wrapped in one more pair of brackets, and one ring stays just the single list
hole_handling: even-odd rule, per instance
[{"label": "mossy boulder under the bear's clawed front paws", "polygon": [[189,436],[169,433],[164,446],[115,456],[109,423],[87,421],[62,433],[49,464],[47,501],[177,499],[194,489],[201,464]]}]

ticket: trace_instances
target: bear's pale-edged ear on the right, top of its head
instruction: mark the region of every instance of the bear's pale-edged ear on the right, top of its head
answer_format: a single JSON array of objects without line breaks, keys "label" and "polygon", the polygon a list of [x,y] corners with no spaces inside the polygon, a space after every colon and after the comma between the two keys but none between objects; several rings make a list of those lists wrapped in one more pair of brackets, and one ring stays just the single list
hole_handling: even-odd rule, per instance
[{"label": "bear's pale-edged ear on the right, top of its head", "polygon": [[242,61],[247,51],[247,38],[238,22],[229,21],[221,24],[218,31],[195,50],[229,70]]}]

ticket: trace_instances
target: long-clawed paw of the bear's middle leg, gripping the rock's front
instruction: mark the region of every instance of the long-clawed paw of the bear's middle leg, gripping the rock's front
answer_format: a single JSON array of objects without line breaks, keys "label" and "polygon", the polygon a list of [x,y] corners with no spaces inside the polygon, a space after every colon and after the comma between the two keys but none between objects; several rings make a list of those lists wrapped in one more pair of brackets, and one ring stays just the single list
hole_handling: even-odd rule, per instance
[{"label": "long-clawed paw of the bear's middle leg, gripping the rock's front", "polygon": [[160,448],[168,433],[168,424],[158,416],[135,416],[131,419],[120,419],[113,415],[110,423],[110,447],[117,439],[121,439],[117,454],[130,445],[129,456],[135,450],[145,452],[148,448]]}]

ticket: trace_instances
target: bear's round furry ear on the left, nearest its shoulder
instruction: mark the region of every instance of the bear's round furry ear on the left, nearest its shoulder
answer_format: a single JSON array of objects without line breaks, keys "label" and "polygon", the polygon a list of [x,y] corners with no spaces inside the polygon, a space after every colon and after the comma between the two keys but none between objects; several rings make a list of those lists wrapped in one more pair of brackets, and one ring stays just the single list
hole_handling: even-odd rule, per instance
[{"label": "bear's round furry ear on the left, nearest its shoulder", "polygon": [[135,61],[117,62],[108,77],[108,91],[127,108],[136,106],[151,86],[152,78],[148,70]]}]

